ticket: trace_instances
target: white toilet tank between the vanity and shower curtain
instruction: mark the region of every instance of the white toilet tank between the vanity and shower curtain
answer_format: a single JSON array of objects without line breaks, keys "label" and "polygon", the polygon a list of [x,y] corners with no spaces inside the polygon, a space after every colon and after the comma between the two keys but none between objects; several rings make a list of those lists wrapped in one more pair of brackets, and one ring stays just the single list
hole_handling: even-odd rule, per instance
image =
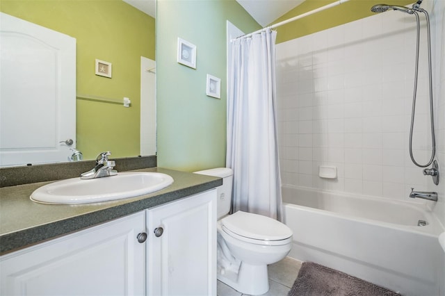
[{"label": "white toilet tank between the vanity and shower curtain", "polygon": [[218,213],[218,220],[220,217],[227,215],[232,205],[232,182],[234,178],[232,169],[229,167],[216,167],[210,170],[195,172],[195,174],[205,174],[207,176],[223,178],[223,185],[216,188],[218,194],[216,211]]}]

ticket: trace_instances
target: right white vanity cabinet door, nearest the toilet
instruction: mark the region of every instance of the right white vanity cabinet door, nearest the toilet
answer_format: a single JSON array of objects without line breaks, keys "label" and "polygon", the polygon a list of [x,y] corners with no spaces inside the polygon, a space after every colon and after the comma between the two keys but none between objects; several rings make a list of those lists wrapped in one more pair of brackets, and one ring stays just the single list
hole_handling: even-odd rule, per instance
[{"label": "right white vanity cabinet door, nearest the toilet", "polygon": [[147,210],[147,222],[148,295],[216,295],[216,190]]}]

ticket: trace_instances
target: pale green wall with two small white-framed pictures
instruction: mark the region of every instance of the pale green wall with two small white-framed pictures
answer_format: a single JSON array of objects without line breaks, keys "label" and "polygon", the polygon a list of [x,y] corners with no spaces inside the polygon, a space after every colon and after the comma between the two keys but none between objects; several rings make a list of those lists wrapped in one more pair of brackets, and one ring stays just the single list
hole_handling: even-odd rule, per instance
[{"label": "pale green wall with two small white-framed pictures", "polygon": [[[226,20],[245,32],[261,26],[234,0],[156,2],[158,165],[193,172],[225,166]],[[177,63],[177,38],[197,47],[196,69]],[[221,79],[221,99],[206,76]]]}]

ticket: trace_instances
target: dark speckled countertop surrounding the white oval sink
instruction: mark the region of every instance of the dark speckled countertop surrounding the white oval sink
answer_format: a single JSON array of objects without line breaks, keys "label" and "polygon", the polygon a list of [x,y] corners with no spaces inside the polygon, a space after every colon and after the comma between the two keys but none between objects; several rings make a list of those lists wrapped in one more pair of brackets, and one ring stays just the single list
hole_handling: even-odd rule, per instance
[{"label": "dark speckled countertop surrounding the white oval sink", "polygon": [[171,186],[148,195],[112,202],[76,205],[38,204],[31,193],[47,183],[0,188],[0,255],[38,242],[79,231],[118,217],[195,195],[223,184],[223,179],[152,167],[135,172],[162,172],[174,179]]}]

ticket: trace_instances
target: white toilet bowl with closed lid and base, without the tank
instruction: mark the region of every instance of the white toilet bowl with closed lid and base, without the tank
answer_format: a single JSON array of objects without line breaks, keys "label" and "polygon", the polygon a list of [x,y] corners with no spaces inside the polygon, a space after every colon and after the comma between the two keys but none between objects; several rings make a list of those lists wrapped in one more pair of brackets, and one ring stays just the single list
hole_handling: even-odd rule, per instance
[{"label": "white toilet bowl with closed lid and base, without the tank", "polygon": [[218,221],[218,238],[241,261],[237,274],[220,266],[218,279],[243,294],[261,295],[269,290],[267,265],[291,251],[292,231],[270,217],[238,211]]}]

